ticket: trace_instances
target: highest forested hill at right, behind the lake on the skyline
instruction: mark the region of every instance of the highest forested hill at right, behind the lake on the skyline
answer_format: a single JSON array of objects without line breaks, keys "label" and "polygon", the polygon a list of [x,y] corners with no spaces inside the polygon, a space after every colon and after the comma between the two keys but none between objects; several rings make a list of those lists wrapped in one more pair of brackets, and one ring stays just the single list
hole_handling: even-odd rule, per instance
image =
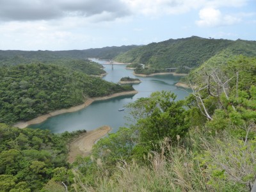
[{"label": "highest forested hill at right, behind the lake on the skyline", "polygon": [[124,63],[143,63],[149,68],[198,67],[218,52],[230,49],[234,54],[256,56],[256,42],[213,38],[170,39],[136,47],[116,56],[114,60]]}]

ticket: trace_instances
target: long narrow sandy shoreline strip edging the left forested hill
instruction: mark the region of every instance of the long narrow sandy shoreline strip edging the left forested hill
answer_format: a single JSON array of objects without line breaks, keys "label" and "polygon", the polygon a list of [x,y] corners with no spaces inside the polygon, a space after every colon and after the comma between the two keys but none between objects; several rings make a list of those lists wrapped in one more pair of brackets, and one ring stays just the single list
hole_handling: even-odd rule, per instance
[{"label": "long narrow sandy shoreline strip edging the left forested hill", "polygon": [[86,108],[87,106],[92,104],[93,101],[96,101],[96,100],[107,100],[107,99],[111,99],[111,98],[122,96],[122,95],[135,95],[137,93],[138,93],[138,91],[134,90],[134,91],[130,91],[130,92],[113,93],[111,95],[107,95],[107,96],[104,96],[104,97],[88,98],[83,104],[80,104],[78,106],[73,106],[73,107],[67,108],[67,109],[58,109],[56,111],[52,111],[52,112],[47,113],[45,115],[38,116],[38,117],[33,118],[32,120],[29,120],[29,121],[26,121],[26,122],[17,122],[16,124],[13,124],[12,126],[23,129],[23,128],[28,127],[28,125],[40,124],[40,123],[44,122],[45,120],[47,120],[47,118],[49,118],[51,116],[60,115],[62,113],[70,113],[70,112],[74,112],[74,111],[79,111],[83,108]]}]

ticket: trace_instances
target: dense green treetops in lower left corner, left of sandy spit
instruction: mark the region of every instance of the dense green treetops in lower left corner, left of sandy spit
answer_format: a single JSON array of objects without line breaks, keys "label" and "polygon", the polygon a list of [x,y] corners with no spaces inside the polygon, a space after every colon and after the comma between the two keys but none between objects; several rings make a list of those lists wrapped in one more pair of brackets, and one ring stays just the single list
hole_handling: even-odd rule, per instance
[{"label": "dense green treetops in lower left corner, left of sandy spit", "polygon": [[66,173],[72,182],[67,143],[82,132],[56,135],[0,124],[0,191],[39,191],[44,186],[52,186],[49,191],[65,191],[56,181]]}]

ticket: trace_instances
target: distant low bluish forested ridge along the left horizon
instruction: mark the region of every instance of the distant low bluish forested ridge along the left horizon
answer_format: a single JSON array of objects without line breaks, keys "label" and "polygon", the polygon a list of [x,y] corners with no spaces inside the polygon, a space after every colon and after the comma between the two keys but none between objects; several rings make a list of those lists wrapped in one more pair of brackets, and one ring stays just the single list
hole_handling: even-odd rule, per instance
[{"label": "distant low bluish forested ridge along the left horizon", "polygon": [[97,49],[70,50],[70,51],[0,51],[0,65],[18,65],[22,63],[31,63],[41,61],[47,63],[54,60],[84,60],[86,58],[100,58],[111,60],[118,54],[129,51],[137,47],[136,45],[121,47],[103,47]]}]

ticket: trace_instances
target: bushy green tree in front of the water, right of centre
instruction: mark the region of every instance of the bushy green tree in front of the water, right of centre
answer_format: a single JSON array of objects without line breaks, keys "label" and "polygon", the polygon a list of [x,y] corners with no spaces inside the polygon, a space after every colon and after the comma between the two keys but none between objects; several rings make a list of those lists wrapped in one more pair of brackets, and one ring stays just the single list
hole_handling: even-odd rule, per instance
[{"label": "bushy green tree in front of the water, right of centre", "polygon": [[184,101],[175,101],[176,95],[170,92],[154,92],[148,98],[136,100],[127,107],[136,124],[132,129],[138,136],[138,143],[152,146],[164,138],[176,143],[188,132]]}]

